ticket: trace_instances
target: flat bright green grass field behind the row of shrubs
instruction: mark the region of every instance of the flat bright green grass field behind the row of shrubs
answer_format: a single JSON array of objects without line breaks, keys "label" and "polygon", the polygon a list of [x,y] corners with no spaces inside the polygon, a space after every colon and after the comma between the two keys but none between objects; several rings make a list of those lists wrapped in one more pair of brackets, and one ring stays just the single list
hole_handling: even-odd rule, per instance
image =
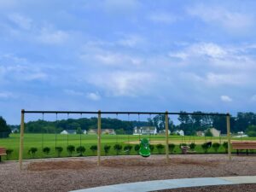
[{"label": "flat bright green grass field behind the row of shrubs", "polygon": [[[148,136],[140,136],[147,137]],[[231,140],[239,140],[241,138],[232,138]],[[253,140],[256,141],[256,137],[247,137],[243,138],[243,140]],[[102,155],[104,155],[103,146],[108,144],[111,146],[108,155],[115,155],[116,152],[113,150],[113,145],[119,143],[123,146],[127,144],[135,145],[139,141],[139,136],[133,135],[102,135]],[[196,153],[204,153],[201,148],[201,143],[210,142],[212,143],[223,143],[227,141],[226,137],[181,137],[181,136],[170,136],[169,143],[174,143],[177,146],[174,149],[174,154],[180,154],[180,143],[196,143],[195,151]],[[61,153],[61,157],[67,157],[67,145],[74,145],[76,148],[80,146],[84,146],[86,148],[85,156],[96,155],[93,154],[90,150],[91,145],[96,145],[97,143],[97,136],[96,135],[60,135],[60,134],[25,134],[24,135],[24,159],[31,159],[31,154],[28,154],[29,148],[35,147],[38,148],[38,152],[35,155],[35,158],[50,158],[56,157],[57,154],[55,153],[55,146],[62,147],[63,151]],[[165,136],[157,135],[157,136],[150,136],[150,143],[158,144],[162,143],[165,144]],[[17,160],[19,157],[19,147],[20,146],[20,135],[19,134],[11,134],[9,138],[0,139],[0,147],[4,148],[12,148],[14,152],[11,154],[10,160]],[[49,155],[45,155],[43,153],[43,148],[49,147],[50,153]],[[235,152],[235,151],[234,151]],[[162,150],[162,153],[165,153],[165,149]],[[208,153],[214,153],[213,148],[208,150]],[[224,148],[221,146],[218,149],[218,153],[224,153]],[[125,151],[122,150],[120,154],[125,154]],[[131,150],[131,154],[137,154],[134,148]],[[153,154],[159,154],[157,149],[154,147]],[[76,152],[73,153],[73,156],[78,156]],[[4,160],[4,158],[3,158]]]}]

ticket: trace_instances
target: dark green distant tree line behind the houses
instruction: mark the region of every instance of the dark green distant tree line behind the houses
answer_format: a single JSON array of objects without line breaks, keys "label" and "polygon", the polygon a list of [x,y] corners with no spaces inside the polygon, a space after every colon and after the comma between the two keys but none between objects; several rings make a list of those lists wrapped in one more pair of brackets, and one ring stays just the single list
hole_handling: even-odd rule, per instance
[{"label": "dark green distant tree line behind the houses", "polygon": [[[171,131],[183,130],[185,135],[195,135],[196,131],[205,131],[207,128],[214,127],[226,133],[226,117],[222,115],[203,115],[202,112],[196,114],[178,115],[179,124],[174,125],[172,116],[169,116],[169,129]],[[155,126],[157,131],[165,130],[166,118],[164,114],[155,115],[147,120],[121,120],[102,118],[102,128],[114,129],[119,134],[131,134],[135,126]],[[236,116],[230,117],[231,132],[244,131],[249,132],[251,136],[256,136],[256,113],[237,113]],[[6,125],[6,121],[0,117],[0,137],[8,137],[11,129],[20,129],[19,125]],[[97,128],[97,118],[81,119],[61,119],[47,121],[38,119],[29,121],[25,124],[26,133],[60,133],[63,130],[90,130]]]}]

